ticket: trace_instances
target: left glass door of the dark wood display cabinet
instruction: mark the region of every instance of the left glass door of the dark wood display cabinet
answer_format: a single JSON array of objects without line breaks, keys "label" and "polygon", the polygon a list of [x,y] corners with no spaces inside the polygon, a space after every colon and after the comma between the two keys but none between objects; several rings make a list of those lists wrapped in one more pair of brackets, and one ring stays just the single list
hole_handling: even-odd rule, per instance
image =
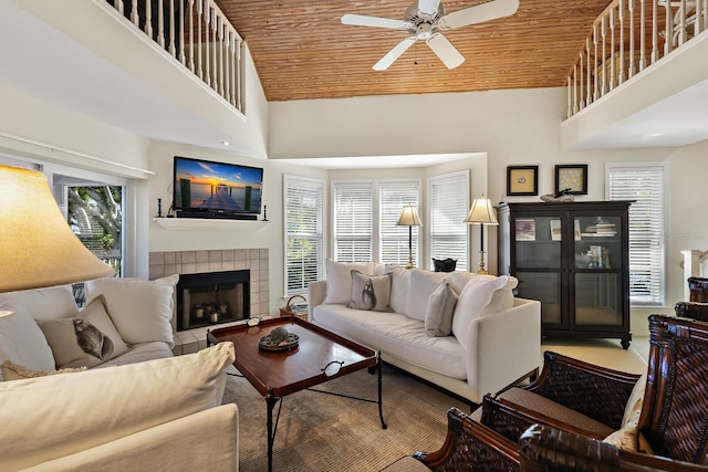
[{"label": "left glass door of the dark wood display cabinet", "polygon": [[559,217],[518,218],[513,222],[518,296],[541,302],[544,324],[562,323],[562,225]]}]

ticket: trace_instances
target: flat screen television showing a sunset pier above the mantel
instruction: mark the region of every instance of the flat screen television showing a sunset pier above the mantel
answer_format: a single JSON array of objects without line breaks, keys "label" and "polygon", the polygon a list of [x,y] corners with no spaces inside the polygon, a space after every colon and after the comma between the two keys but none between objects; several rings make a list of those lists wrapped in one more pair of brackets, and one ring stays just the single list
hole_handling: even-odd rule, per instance
[{"label": "flat screen television showing a sunset pier above the mantel", "polygon": [[173,208],[178,218],[257,219],[263,169],[175,156]]}]

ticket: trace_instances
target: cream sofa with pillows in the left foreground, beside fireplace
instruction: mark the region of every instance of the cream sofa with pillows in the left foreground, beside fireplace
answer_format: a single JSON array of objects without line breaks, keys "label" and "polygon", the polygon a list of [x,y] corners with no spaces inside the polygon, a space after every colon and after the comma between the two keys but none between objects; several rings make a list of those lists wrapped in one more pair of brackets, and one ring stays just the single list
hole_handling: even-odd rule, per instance
[{"label": "cream sofa with pillows in the left foreground, beside fireplace", "polygon": [[[0,294],[0,470],[238,470],[233,346],[173,356],[175,284],[92,281],[83,310],[69,285]],[[88,353],[66,342],[84,322]]]}]

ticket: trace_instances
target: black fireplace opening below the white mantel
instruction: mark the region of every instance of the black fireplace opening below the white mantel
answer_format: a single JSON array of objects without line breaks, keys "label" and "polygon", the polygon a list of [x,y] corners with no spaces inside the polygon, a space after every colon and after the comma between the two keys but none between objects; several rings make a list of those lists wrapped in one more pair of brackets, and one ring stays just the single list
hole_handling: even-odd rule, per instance
[{"label": "black fireplace opening below the white mantel", "polygon": [[183,274],[177,283],[177,331],[249,318],[249,270]]}]

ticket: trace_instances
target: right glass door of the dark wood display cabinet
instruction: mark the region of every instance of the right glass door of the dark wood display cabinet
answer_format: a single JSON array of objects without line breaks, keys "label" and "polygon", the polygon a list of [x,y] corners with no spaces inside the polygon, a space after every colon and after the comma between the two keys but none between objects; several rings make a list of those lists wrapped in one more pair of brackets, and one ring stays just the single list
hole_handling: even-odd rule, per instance
[{"label": "right glass door of the dark wood display cabinet", "polygon": [[622,326],[622,234],[614,216],[573,218],[573,294],[577,327]]}]

